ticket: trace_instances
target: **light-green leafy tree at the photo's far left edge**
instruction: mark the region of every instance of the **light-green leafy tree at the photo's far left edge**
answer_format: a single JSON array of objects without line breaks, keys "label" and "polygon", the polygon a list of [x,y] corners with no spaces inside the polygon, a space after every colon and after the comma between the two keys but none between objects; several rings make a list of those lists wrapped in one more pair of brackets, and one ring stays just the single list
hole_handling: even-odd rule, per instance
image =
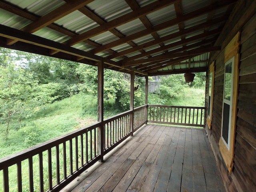
[{"label": "light-green leafy tree at the photo's far left edge", "polygon": [[32,73],[10,62],[1,64],[0,122],[6,124],[6,138],[11,127],[18,129],[20,124],[17,122],[34,114],[36,102],[31,93],[37,84],[38,81],[33,78]]}]

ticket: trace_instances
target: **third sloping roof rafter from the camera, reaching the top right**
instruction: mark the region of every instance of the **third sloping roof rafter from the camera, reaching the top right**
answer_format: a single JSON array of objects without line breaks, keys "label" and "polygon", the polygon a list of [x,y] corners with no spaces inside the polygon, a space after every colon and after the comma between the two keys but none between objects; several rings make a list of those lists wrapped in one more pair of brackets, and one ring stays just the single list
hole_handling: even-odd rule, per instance
[{"label": "third sloping roof rafter from the camera, reaching the top right", "polygon": [[200,9],[195,10],[193,12],[190,12],[188,14],[184,14],[184,15],[180,16],[179,18],[174,18],[172,20],[169,20],[169,21],[163,22],[161,24],[158,24],[158,25],[154,26],[152,29],[145,29],[145,30],[142,30],[140,32],[136,32],[134,34],[126,36],[124,38],[121,38],[119,40],[110,42],[108,44],[105,44],[103,46],[95,48],[94,50],[92,50],[90,52],[96,54],[98,52],[102,52],[104,50],[108,50],[108,49],[113,48],[115,46],[119,46],[121,44],[129,42],[131,40],[135,40],[135,39],[138,39],[138,38],[140,38],[142,36],[146,36],[148,34],[152,34],[153,32],[157,32],[157,31],[163,30],[165,28],[168,28],[168,27],[177,25],[179,23],[185,22],[187,20],[196,18],[198,16],[201,16],[201,15],[204,15],[204,14],[208,14],[209,12],[218,10],[219,8],[228,6],[229,4],[233,4],[236,1],[237,0],[222,0],[220,2],[217,2],[216,4],[205,6],[203,8],[200,8]]}]

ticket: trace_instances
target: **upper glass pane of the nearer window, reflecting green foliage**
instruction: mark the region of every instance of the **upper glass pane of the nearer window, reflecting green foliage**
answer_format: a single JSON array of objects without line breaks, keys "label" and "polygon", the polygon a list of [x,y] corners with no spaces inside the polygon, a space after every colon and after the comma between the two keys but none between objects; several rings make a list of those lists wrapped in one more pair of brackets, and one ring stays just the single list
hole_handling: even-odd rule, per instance
[{"label": "upper glass pane of the nearer window, reflecting green foliage", "polygon": [[224,99],[230,101],[232,85],[232,62],[225,67]]}]

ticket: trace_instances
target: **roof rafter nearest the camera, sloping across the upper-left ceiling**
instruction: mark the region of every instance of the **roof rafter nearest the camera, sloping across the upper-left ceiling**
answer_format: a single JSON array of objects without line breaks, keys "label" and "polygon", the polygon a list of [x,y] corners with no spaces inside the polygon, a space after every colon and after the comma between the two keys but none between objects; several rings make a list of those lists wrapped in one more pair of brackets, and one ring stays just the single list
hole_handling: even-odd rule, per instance
[{"label": "roof rafter nearest the camera, sloping across the upper-left ceiling", "polygon": [[[38,18],[37,21],[32,22],[25,26],[24,28],[20,29],[24,32],[34,33],[41,28],[48,26],[49,24],[53,23],[54,21],[70,14],[71,12],[77,10],[78,8],[85,6],[86,4],[92,2],[93,0],[72,0],[64,5],[54,9],[53,11],[49,12],[48,14]],[[7,42],[8,45],[14,44],[14,40],[9,40]]]}]

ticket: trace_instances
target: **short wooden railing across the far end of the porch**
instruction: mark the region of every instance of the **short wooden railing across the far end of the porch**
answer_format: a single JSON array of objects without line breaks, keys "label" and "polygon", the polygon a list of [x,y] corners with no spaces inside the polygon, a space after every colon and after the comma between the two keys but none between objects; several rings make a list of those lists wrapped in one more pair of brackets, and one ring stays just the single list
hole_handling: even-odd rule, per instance
[{"label": "short wooden railing across the far end of the porch", "polygon": [[148,122],[204,127],[205,107],[148,105]]}]

